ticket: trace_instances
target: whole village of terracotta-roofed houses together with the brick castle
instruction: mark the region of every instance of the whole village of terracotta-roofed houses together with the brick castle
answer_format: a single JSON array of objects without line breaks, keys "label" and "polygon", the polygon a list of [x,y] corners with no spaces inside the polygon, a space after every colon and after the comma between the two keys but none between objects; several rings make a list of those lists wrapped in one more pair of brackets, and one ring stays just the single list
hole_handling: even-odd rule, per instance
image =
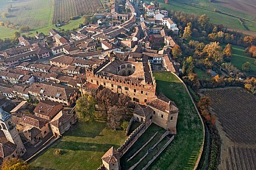
[{"label": "whole village of terracotta-roofed houses together with the brick castle", "polygon": [[[86,25],[69,37],[50,29],[48,36],[22,36],[19,46],[0,51],[0,164],[66,132],[77,120],[76,100],[99,88],[130,96],[138,104],[134,120],[176,133],[179,110],[156,95],[152,71],[179,74],[180,64],[171,55],[178,46],[171,35],[179,30],[167,11],[153,4],[144,8],[140,25],[127,0],[114,3],[109,13],[96,13],[98,25]],[[107,19],[108,25],[99,23]]]}]

